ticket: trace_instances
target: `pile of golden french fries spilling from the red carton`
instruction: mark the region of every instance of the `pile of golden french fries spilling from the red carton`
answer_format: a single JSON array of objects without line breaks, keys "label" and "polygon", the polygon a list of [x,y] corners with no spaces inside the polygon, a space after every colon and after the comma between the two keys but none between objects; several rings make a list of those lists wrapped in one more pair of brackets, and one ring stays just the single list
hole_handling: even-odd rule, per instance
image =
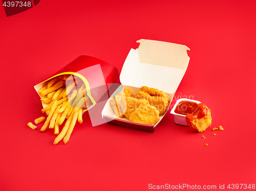
[{"label": "pile of golden french fries spilling from the red carton", "polygon": [[[82,123],[82,110],[87,109],[91,104],[87,96],[86,86],[81,79],[75,78],[73,75],[62,75],[55,77],[39,89],[38,93],[42,98],[43,103],[49,104],[41,109],[42,113],[48,116],[39,117],[35,120],[35,124],[45,121],[40,131],[44,132],[48,127],[54,129],[54,134],[57,135],[53,145],[56,145],[60,140],[67,144],[70,135],[75,127],[76,121]],[[59,133],[59,127],[67,119],[64,127]],[[31,122],[28,123],[31,129],[35,129]]]}]

